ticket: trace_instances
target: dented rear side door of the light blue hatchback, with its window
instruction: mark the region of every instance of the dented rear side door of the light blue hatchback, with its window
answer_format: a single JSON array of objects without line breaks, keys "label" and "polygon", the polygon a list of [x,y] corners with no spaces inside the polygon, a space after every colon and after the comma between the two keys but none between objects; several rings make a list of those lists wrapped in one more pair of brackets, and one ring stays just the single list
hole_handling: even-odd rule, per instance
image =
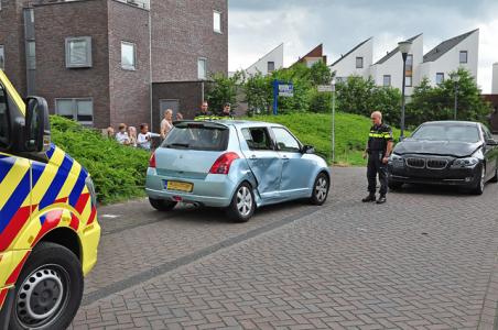
[{"label": "dented rear side door of the light blue hatchback, with its window", "polygon": [[258,182],[258,193],[262,199],[280,197],[282,160],[274,151],[268,128],[243,128],[241,150]]}]

